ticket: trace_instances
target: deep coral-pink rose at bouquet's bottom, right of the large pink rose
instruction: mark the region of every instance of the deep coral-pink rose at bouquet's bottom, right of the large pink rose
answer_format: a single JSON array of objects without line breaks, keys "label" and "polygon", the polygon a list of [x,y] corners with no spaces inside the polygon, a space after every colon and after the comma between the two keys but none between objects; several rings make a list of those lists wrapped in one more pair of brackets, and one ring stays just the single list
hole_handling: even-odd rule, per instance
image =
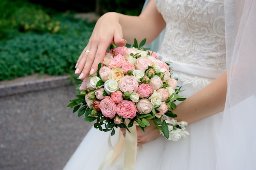
[{"label": "deep coral-pink rose at bouquet's bottom, right of the large pink rose", "polygon": [[129,100],[122,100],[117,104],[117,114],[124,119],[132,119],[136,116],[136,105]]}]

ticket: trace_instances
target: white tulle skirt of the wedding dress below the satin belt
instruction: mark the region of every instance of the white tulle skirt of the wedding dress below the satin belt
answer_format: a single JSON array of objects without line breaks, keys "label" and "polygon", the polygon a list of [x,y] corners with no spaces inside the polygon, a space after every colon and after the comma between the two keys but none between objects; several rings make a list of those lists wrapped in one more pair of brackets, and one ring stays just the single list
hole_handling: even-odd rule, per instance
[{"label": "white tulle skirt of the wedding dress below the satin belt", "polygon": [[[181,94],[184,97],[189,97],[213,80],[179,72],[173,73],[172,77],[175,76],[179,77],[182,89],[186,89]],[[159,137],[138,147],[135,170],[215,170],[222,117],[223,114],[218,113],[189,124],[186,130],[190,135],[185,139],[169,141]],[[118,130],[110,136],[109,132],[92,127],[63,170],[98,170],[111,149],[109,138],[115,145]],[[121,153],[111,165],[106,163],[103,170],[123,170],[123,160],[124,153]]]}]

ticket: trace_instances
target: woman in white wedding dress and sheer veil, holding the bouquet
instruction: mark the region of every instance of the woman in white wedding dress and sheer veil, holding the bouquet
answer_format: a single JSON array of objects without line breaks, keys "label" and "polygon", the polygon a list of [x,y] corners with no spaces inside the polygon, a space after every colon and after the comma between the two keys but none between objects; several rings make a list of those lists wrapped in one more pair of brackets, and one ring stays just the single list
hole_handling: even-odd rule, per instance
[{"label": "woman in white wedding dress and sheer veil, holding the bouquet", "polygon": [[[254,0],[150,0],[139,16],[110,12],[97,21],[75,66],[79,79],[96,72],[110,43],[149,43],[164,30],[151,50],[172,62],[186,89],[174,112],[190,135],[174,142],[155,126],[137,130],[135,170],[256,169],[255,16]],[[92,127],[63,170],[126,169],[123,153],[107,162],[109,136]]]}]

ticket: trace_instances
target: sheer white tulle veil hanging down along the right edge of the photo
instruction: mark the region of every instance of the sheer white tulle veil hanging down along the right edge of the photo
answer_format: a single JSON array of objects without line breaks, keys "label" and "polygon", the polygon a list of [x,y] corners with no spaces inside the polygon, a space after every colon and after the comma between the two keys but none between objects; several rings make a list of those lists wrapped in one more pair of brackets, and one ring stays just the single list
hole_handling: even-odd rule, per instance
[{"label": "sheer white tulle veil hanging down along the right edge of the photo", "polygon": [[[228,89],[217,170],[256,170],[255,17],[255,0],[225,0]],[[147,47],[157,51],[164,31]]]}]

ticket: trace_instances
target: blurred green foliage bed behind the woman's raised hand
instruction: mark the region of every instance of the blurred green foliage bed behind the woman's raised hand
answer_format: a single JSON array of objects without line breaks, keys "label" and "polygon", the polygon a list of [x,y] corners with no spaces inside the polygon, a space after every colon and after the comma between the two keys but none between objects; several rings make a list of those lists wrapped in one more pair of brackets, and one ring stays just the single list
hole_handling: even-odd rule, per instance
[{"label": "blurred green foliage bed behind the woman's raised hand", "polygon": [[[105,3],[113,2],[105,0]],[[117,7],[112,11],[118,12]],[[132,11],[128,13],[135,15]],[[95,25],[95,22],[75,19],[74,14],[29,0],[1,0],[0,80],[34,73],[69,74],[74,78],[74,65]]]}]

